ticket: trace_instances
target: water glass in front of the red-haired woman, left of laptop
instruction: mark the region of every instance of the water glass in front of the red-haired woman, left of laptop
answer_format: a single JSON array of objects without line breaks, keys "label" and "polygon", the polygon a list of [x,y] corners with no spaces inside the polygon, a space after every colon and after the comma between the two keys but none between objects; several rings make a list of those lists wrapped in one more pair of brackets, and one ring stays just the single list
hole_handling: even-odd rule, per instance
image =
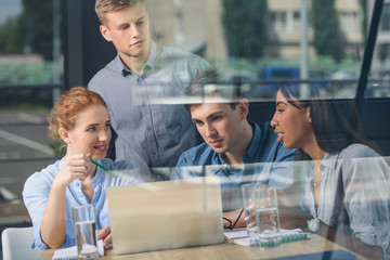
[{"label": "water glass in front of the red-haired woman, left of laptop", "polygon": [[96,259],[98,234],[96,217],[93,205],[82,205],[73,208],[76,245],[79,259]]}]

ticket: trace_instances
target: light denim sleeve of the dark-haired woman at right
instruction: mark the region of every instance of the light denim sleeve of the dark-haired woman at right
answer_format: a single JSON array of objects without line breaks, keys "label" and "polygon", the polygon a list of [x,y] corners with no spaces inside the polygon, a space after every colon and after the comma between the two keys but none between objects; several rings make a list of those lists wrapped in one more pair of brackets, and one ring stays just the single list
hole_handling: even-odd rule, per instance
[{"label": "light denim sleeve of the dark-haired woman at right", "polygon": [[385,259],[390,259],[389,166],[381,157],[352,158],[343,171],[349,172],[344,202],[353,234],[380,246]]}]

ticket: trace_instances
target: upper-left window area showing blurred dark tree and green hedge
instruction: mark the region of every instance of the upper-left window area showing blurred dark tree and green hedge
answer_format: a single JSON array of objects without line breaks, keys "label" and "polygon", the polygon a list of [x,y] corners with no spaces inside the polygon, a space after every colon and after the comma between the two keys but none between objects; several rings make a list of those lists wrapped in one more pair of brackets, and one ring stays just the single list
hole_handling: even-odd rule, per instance
[{"label": "upper-left window area showing blurred dark tree and green hedge", "polygon": [[0,3],[4,14],[0,15],[0,83],[60,82],[63,65],[58,3]]}]

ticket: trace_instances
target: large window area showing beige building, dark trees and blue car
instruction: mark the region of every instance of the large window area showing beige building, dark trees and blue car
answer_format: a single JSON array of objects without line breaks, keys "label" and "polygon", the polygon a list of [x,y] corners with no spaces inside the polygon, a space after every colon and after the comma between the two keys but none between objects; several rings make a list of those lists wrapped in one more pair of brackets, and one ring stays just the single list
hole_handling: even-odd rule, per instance
[{"label": "large window area showing beige building, dark trees and blue car", "polygon": [[203,50],[211,64],[227,72],[227,78],[250,81],[244,90],[248,98],[269,100],[286,77],[298,83],[304,80],[308,96],[355,96],[367,13],[360,2],[177,0],[168,8],[147,0],[146,4],[153,6],[148,10],[157,43]]}]

